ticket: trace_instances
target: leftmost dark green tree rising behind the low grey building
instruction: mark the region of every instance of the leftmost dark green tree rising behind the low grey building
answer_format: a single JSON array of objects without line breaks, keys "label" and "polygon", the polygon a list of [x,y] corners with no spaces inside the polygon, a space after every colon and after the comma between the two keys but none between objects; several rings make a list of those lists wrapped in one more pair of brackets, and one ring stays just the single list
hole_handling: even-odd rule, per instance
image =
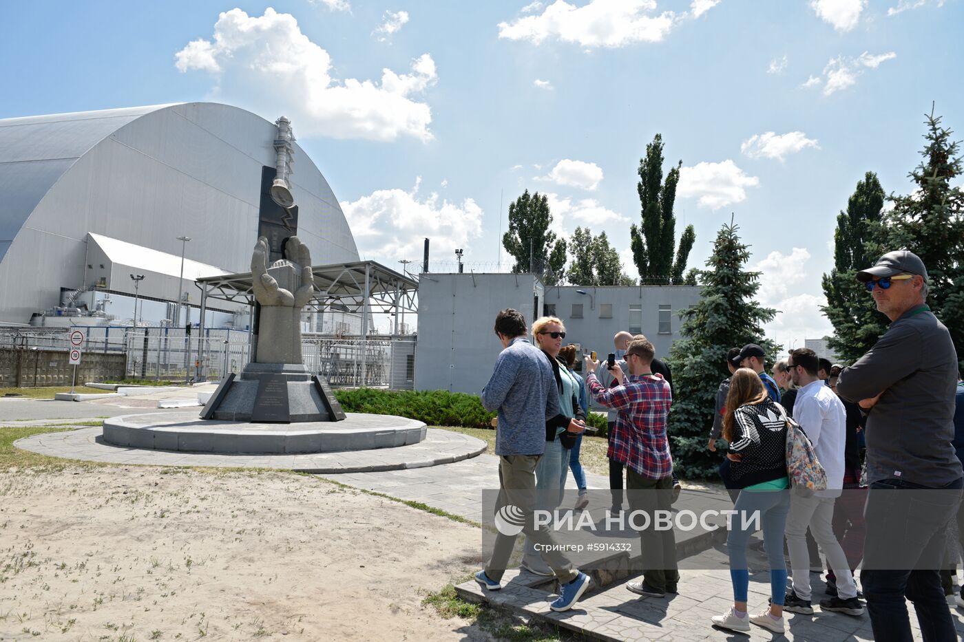
[{"label": "leftmost dark green tree rising behind the low grey building", "polygon": [[509,231],[502,235],[502,247],[516,259],[512,272],[533,272],[547,285],[565,279],[566,240],[549,231],[552,214],[549,199],[536,192],[509,203]]}]

